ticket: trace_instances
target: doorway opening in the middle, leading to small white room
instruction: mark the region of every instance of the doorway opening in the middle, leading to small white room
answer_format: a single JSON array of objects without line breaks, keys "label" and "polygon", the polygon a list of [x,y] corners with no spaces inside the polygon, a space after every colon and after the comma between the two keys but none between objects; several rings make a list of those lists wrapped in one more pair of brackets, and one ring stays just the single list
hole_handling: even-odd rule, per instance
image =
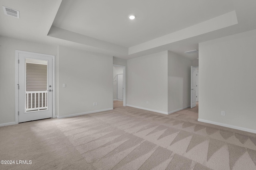
[{"label": "doorway opening in the middle, leading to small white room", "polygon": [[125,68],[113,65],[113,108],[126,106]]}]

